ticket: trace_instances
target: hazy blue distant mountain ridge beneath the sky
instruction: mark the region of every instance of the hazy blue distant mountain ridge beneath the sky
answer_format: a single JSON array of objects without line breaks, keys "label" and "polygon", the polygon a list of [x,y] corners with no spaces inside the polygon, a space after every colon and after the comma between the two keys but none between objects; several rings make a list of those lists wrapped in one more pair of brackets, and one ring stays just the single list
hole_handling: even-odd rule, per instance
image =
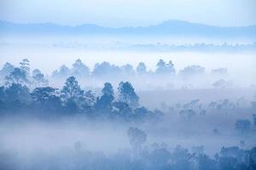
[{"label": "hazy blue distant mountain ridge beneath the sky", "polygon": [[167,20],[154,26],[125,26],[119,28],[83,24],[59,26],[51,23],[15,24],[0,21],[0,34],[121,34],[199,37],[256,37],[256,26],[219,27],[190,23],[182,20]]}]

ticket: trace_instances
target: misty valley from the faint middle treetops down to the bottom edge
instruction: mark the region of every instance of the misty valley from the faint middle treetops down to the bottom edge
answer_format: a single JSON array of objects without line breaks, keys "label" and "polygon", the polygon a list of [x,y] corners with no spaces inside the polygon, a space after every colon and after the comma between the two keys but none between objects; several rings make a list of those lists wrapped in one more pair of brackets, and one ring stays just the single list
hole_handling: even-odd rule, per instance
[{"label": "misty valley from the faint middle treetops down to the bottom edge", "polygon": [[256,169],[252,73],[176,64],[6,62],[0,169]]}]

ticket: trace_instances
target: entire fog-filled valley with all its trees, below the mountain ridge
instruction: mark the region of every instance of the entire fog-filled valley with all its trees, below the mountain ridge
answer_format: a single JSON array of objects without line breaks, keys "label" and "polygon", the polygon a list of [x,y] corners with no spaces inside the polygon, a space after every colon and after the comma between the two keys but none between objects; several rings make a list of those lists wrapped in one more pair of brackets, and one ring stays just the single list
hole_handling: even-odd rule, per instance
[{"label": "entire fog-filled valley with all its trees, below the mountain ridge", "polygon": [[252,39],[1,38],[0,169],[255,168]]}]

